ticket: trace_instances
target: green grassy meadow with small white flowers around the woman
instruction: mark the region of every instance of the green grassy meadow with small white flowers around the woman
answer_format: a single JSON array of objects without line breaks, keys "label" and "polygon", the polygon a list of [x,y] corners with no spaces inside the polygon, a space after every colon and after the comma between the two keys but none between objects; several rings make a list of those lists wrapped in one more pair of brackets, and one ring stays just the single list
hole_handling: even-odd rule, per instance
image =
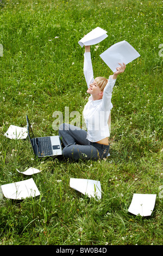
[{"label": "green grassy meadow with small white flowers around the woman", "polygon": [[[1,245],[162,245],[162,1],[0,1],[0,185],[33,178],[41,195],[0,193]],[[96,27],[108,37],[91,46],[94,75],[112,71],[99,54],[126,40],[141,55],[117,77],[112,93],[110,156],[38,160],[29,139],[4,136],[10,125],[35,136],[58,135],[53,113],[80,113],[87,102],[84,47]],[[69,122],[74,117],[70,114]],[[29,167],[42,170],[33,176]],[[70,188],[70,178],[101,181],[102,199]],[[149,217],[128,212],[134,193],[156,194]]]}]

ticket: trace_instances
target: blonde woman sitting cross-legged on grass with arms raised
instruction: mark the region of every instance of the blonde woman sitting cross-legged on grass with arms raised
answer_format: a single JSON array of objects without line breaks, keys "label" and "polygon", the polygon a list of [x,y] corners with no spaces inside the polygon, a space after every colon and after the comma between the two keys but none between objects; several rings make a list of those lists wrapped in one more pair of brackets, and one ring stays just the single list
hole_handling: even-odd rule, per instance
[{"label": "blonde woman sitting cross-legged on grass with arms raised", "polygon": [[117,71],[109,76],[93,78],[90,46],[85,46],[84,76],[87,93],[91,96],[83,111],[87,131],[70,124],[59,127],[59,136],[64,144],[64,157],[77,161],[79,159],[98,160],[109,154],[108,119],[112,108],[111,95],[117,75],[124,72],[126,65],[121,63]]}]

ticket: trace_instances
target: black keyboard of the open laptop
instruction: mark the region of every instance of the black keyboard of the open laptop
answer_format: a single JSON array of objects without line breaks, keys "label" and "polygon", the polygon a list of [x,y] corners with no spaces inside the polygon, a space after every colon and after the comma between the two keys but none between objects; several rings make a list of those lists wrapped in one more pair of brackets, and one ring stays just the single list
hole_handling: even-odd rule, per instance
[{"label": "black keyboard of the open laptop", "polygon": [[37,139],[39,145],[39,156],[53,155],[52,143],[50,137],[42,137]]}]

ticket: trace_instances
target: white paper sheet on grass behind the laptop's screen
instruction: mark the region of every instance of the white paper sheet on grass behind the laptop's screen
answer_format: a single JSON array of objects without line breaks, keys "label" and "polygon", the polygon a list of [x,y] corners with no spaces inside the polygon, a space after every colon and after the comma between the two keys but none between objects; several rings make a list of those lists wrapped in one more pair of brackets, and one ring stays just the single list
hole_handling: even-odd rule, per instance
[{"label": "white paper sheet on grass behind the laptop's screen", "polygon": [[4,136],[10,139],[26,139],[28,136],[27,128],[10,125]]}]

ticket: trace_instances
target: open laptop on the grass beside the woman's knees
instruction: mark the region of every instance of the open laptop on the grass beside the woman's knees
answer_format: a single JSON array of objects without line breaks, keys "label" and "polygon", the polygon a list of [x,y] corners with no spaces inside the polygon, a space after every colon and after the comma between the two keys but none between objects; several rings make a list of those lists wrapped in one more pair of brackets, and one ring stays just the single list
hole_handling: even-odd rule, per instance
[{"label": "open laptop on the grass beside the woman's knees", "polygon": [[27,119],[27,132],[32,144],[34,154],[38,157],[62,155],[61,141],[59,136],[34,137],[32,127]]}]

